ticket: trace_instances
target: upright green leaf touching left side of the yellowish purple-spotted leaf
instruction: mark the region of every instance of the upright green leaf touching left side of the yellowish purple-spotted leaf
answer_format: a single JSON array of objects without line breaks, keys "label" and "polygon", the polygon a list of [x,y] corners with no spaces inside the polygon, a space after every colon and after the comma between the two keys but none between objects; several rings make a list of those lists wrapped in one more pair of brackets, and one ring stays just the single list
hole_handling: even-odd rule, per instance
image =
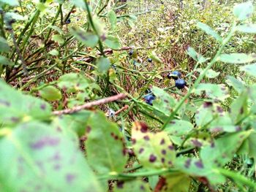
[{"label": "upright green leaf touching left side of the yellowish purple-spotted leaf", "polygon": [[86,153],[89,164],[99,174],[122,172],[127,163],[124,139],[115,123],[102,112],[93,113],[86,126]]}]

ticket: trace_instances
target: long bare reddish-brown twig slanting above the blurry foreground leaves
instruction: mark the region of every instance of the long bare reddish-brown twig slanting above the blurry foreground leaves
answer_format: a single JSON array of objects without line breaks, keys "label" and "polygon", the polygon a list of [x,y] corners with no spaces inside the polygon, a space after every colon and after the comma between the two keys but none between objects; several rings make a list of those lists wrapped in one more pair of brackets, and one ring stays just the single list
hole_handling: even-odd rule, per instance
[{"label": "long bare reddish-brown twig slanting above the blurry foreground leaves", "polygon": [[74,112],[79,112],[80,110],[89,109],[89,108],[91,108],[93,106],[97,106],[97,105],[101,105],[101,104],[107,104],[107,103],[110,103],[112,101],[124,99],[126,97],[127,97],[126,94],[120,93],[120,94],[118,94],[116,96],[110,96],[108,98],[100,99],[98,101],[91,101],[91,102],[89,102],[87,104],[83,104],[83,105],[80,105],[78,107],[74,107],[72,109],[61,110],[61,111],[54,111],[53,115],[71,114],[71,113],[74,113]]}]

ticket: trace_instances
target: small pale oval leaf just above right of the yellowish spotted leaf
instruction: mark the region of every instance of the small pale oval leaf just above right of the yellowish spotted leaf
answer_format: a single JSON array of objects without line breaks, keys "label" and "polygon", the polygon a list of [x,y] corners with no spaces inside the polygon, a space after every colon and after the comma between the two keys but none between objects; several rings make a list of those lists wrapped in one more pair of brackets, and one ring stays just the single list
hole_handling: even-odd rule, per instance
[{"label": "small pale oval leaf just above right of the yellowish spotted leaf", "polygon": [[165,131],[170,135],[182,136],[188,134],[192,128],[192,123],[187,120],[172,120],[167,124]]}]

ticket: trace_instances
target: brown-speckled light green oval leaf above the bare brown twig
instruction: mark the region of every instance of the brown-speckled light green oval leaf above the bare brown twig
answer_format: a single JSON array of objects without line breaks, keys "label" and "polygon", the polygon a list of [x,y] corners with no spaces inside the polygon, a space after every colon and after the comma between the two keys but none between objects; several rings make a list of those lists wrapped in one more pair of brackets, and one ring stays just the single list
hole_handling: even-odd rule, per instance
[{"label": "brown-speckled light green oval leaf above the bare brown twig", "polygon": [[77,91],[84,91],[89,88],[89,81],[81,74],[69,73],[64,74],[59,78],[58,86],[64,89],[68,93],[74,93]]}]

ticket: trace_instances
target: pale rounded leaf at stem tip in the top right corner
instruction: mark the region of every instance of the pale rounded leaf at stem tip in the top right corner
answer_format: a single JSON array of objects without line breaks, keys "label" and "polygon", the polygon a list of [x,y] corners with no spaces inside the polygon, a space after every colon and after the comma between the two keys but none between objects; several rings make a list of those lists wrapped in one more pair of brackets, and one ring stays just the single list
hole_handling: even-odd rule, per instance
[{"label": "pale rounded leaf at stem tip in the top right corner", "polygon": [[233,14],[238,18],[238,20],[246,20],[252,16],[253,5],[251,1],[237,4],[233,9]]}]

